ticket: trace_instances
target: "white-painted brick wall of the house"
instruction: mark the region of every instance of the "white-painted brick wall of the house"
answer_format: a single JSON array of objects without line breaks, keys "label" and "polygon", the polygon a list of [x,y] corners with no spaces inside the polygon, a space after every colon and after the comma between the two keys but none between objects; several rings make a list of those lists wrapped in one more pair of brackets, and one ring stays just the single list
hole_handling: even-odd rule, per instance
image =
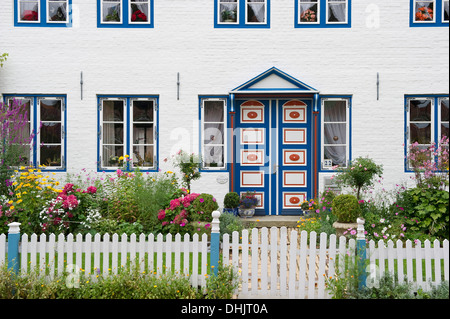
[{"label": "white-painted brick wall of the house", "polygon": [[[73,0],[66,29],[14,27],[13,0],[1,0],[9,59],[0,93],[67,94],[67,164],[76,172],[96,169],[97,94],[160,96],[162,162],[180,143],[198,150],[198,95],[227,94],[276,66],[321,94],[352,94],[353,158],[383,163],[387,185],[407,179],[404,94],[448,93],[448,28],[410,28],[409,1],[353,0],[352,28],[295,29],[294,1],[271,2],[270,29],[214,29],[212,0],[155,0],[155,28],[98,29],[96,1]],[[374,9],[380,25],[371,28]],[[223,198],[218,175],[203,174],[195,190]]]}]

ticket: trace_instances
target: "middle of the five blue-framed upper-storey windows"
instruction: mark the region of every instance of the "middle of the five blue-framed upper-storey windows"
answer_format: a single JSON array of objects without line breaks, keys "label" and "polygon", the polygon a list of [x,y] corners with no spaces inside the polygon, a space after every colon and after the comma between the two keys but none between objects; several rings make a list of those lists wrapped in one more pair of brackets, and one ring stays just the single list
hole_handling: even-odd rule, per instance
[{"label": "middle of the five blue-framed upper-storey windows", "polygon": [[270,0],[214,0],[215,28],[270,28]]}]

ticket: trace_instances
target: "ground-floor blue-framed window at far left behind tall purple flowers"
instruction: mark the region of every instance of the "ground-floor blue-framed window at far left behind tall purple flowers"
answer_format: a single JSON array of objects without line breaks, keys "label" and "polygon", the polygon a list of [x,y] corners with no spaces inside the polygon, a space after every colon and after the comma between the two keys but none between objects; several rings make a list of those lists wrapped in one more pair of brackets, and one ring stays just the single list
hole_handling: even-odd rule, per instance
[{"label": "ground-floor blue-framed window at far left behind tall purple flowers", "polygon": [[66,96],[65,95],[4,95],[5,103],[14,100],[27,107],[27,134],[34,134],[29,153],[23,154],[21,165],[41,167],[50,171],[66,170]]}]

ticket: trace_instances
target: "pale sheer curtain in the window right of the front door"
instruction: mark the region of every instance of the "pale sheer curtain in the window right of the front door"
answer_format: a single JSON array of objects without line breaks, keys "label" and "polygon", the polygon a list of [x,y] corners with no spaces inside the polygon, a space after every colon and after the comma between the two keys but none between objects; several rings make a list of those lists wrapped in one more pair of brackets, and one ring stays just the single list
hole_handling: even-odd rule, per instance
[{"label": "pale sheer curtain in the window right of the front door", "polygon": [[324,104],[324,155],[333,165],[347,164],[347,104],[326,101]]}]

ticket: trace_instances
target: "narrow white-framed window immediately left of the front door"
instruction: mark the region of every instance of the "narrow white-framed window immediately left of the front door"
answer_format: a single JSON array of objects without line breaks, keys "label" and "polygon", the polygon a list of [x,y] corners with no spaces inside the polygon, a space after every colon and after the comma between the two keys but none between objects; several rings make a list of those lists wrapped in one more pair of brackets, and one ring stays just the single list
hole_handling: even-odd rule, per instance
[{"label": "narrow white-framed window immediately left of the front door", "polygon": [[225,169],[227,158],[226,99],[202,99],[200,118],[203,169]]}]

